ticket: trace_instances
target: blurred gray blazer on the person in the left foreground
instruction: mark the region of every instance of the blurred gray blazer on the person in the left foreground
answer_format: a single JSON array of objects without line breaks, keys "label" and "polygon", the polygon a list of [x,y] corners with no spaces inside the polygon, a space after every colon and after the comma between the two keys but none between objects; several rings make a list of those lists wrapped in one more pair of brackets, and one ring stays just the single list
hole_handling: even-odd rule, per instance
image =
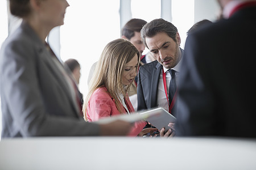
[{"label": "blurred gray blazer on the person in the left foreground", "polygon": [[0,53],[2,138],[99,135],[79,116],[52,54],[26,22]]}]

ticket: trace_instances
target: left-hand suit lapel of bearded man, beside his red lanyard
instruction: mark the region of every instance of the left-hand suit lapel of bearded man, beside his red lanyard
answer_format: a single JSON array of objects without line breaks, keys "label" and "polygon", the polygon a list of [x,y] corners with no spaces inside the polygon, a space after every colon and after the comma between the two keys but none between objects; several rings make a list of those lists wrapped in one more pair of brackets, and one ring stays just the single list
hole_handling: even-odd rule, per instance
[{"label": "left-hand suit lapel of bearded man, beside his red lanyard", "polygon": [[159,82],[159,76],[160,71],[162,70],[162,65],[157,62],[156,66],[152,73],[152,79],[151,79],[151,89],[150,89],[150,107],[154,108],[157,107],[157,99],[158,99],[158,82]]}]

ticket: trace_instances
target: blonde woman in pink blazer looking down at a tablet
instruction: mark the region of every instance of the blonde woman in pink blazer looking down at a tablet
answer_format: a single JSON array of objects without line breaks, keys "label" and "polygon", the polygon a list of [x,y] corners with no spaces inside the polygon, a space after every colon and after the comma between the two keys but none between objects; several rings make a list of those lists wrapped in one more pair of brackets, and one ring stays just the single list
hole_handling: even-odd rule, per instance
[{"label": "blonde woman in pink blazer looking down at a tablet", "polygon": [[[138,64],[139,52],[131,42],[117,39],[105,46],[83,105],[86,121],[134,112],[127,93],[137,75]],[[142,131],[145,125],[144,121],[135,123],[129,135],[137,136],[155,130]]]}]

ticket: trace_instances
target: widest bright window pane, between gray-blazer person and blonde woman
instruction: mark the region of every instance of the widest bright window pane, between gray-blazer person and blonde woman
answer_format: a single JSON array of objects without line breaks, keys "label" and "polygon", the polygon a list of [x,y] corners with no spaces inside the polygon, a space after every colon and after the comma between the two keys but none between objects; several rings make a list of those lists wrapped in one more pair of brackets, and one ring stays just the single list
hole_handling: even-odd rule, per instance
[{"label": "widest bright window pane, between gray-blazer person and blonde woman", "polygon": [[68,1],[65,24],[60,27],[60,56],[81,65],[80,91],[88,92],[90,67],[108,42],[120,37],[119,0]]}]

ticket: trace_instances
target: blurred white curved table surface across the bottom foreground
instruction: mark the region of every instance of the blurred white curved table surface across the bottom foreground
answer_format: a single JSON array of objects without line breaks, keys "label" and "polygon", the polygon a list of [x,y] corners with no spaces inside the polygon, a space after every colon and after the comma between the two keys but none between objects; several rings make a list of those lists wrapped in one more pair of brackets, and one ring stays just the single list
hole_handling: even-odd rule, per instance
[{"label": "blurred white curved table surface across the bottom foreground", "polygon": [[0,141],[0,169],[256,169],[256,140],[27,138]]}]

